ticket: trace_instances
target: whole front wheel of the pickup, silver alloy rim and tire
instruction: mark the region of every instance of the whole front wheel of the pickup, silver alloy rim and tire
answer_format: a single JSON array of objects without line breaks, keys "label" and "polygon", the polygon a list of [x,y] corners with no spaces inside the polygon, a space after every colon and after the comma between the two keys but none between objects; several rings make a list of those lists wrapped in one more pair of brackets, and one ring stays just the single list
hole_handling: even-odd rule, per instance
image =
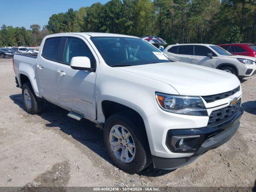
[{"label": "whole front wheel of the pickup, silver alloy rim and tire", "polygon": [[140,172],[151,163],[146,131],[120,114],[108,118],[104,126],[104,143],[111,160],[120,169]]}]

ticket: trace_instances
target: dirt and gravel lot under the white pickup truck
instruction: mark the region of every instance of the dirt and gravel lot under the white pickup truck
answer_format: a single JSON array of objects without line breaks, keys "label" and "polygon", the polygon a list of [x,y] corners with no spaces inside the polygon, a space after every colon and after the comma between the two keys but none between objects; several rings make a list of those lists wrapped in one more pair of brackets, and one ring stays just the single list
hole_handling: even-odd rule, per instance
[{"label": "dirt and gravel lot under the white pickup truck", "polygon": [[46,103],[24,111],[11,59],[0,59],[0,186],[255,186],[256,75],[242,80],[238,132],[217,149],[172,172],[127,174],[113,166],[102,132]]}]

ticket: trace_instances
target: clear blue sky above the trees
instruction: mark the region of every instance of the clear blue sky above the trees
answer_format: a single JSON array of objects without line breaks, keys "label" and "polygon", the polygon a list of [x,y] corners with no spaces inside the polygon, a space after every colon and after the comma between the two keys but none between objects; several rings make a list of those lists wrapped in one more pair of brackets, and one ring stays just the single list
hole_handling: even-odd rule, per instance
[{"label": "clear blue sky above the trees", "polygon": [[44,26],[52,14],[67,12],[69,8],[78,10],[96,2],[105,4],[109,0],[8,0],[1,1],[0,27],[22,27],[30,29],[30,25]]}]

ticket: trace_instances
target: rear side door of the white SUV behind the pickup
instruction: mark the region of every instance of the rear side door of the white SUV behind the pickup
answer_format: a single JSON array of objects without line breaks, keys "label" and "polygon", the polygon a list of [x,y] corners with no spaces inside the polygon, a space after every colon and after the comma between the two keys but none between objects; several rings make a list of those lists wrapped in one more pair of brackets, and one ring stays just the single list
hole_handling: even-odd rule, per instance
[{"label": "rear side door of the white SUV behind the pickup", "polygon": [[191,63],[193,45],[180,45],[178,49],[178,61]]}]

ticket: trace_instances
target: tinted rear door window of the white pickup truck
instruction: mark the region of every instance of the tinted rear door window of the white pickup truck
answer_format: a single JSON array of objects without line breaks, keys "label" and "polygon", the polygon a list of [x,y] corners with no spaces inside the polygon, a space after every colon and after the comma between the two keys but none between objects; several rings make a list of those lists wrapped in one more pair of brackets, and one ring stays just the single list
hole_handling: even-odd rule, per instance
[{"label": "tinted rear door window of the white pickup truck", "polygon": [[61,37],[45,40],[42,56],[46,59],[57,60]]}]

